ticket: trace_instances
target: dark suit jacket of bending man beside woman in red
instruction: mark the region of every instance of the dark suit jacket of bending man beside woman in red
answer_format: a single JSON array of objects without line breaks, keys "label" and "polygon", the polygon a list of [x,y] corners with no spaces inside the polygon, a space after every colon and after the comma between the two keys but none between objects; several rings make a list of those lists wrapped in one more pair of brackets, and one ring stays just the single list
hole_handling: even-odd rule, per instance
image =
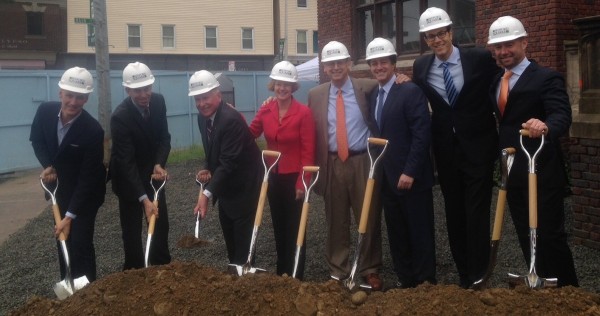
[{"label": "dark suit jacket of bending man beside woman in red", "polygon": [[236,212],[255,204],[264,170],[261,153],[244,117],[221,102],[213,121],[212,137],[206,135],[206,118],[198,115],[198,127],[206,155],[205,169],[211,179],[206,189],[221,210],[234,218]]}]

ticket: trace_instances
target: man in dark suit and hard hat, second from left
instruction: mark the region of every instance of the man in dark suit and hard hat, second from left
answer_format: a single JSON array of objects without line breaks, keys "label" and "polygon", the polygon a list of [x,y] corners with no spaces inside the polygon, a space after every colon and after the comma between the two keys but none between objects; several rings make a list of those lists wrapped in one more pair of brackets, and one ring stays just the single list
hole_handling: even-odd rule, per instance
[{"label": "man in dark suit and hard hat, second from left", "polygon": [[[142,218],[156,216],[148,263],[171,262],[169,252],[169,213],[165,190],[161,190],[158,208],[152,203],[154,189],[150,177],[167,178],[165,165],[171,151],[164,97],[152,91],[154,76],[143,63],[130,63],[123,70],[127,97],[114,110],[110,127],[112,154],[110,173],[113,192],[119,198],[123,250],[123,270],[145,266],[142,246]],[[158,188],[160,184],[155,186]]]}]

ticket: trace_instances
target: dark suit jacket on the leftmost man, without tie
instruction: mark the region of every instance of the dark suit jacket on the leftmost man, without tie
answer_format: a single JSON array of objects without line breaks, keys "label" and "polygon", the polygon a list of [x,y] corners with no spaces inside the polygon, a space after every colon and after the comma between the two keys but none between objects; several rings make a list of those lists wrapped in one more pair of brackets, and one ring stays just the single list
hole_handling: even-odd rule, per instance
[{"label": "dark suit jacket on the leftmost man, without tie", "polygon": [[104,202],[106,168],[104,131],[87,111],[69,129],[58,145],[57,124],[60,102],[45,102],[38,108],[29,140],[43,168],[56,169],[58,205],[64,214],[96,212]]}]

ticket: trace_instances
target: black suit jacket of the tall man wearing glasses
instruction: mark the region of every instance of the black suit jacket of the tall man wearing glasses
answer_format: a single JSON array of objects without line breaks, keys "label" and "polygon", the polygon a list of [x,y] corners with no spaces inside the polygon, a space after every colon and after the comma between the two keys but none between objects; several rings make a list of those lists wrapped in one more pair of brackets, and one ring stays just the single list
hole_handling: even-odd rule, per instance
[{"label": "black suit jacket of the tall man wearing glasses", "polygon": [[433,149],[436,159],[453,159],[458,146],[473,164],[485,164],[498,156],[498,134],[493,105],[486,91],[500,72],[491,53],[482,48],[459,48],[464,86],[451,108],[427,83],[435,55],[424,55],[413,65],[413,80],[423,89],[433,111]]}]

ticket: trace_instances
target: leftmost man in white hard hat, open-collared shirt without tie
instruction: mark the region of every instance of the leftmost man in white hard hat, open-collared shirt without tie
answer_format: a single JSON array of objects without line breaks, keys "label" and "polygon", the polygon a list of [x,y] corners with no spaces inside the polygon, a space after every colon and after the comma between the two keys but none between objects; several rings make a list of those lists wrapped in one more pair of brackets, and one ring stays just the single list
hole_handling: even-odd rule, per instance
[{"label": "leftmost man in white hard hat, open-collared shirt without tie", "polygon": [[[62,75],[60,102],[42,103],[31,124],[29,140],[43,171],[40,179],[49,187],[58,185],[56,200],[62,221],[56,237],[67,236],[71,276],[96,280],[94,224],[106,192],[104,131],[83,109],[94,88],[92,74],[73,67]],[[58,246],[58,244],[57,244]],[[65,265],[59,248],[61,279]]]}]

